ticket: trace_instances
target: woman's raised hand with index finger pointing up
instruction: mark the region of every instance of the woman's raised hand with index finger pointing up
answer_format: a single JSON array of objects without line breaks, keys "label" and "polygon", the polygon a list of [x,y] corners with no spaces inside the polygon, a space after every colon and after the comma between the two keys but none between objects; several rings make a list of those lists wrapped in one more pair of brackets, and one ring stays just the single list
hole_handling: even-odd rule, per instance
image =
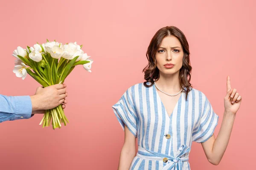
[{"label": "woman's raised hand with index finger pointing up", "polygon": [[225,112],[236,114],[241,105],[241,101],[242,97],[237,93],[235,88],[231,88],[230,77],[227,76],[227,94],[224,97]]}]

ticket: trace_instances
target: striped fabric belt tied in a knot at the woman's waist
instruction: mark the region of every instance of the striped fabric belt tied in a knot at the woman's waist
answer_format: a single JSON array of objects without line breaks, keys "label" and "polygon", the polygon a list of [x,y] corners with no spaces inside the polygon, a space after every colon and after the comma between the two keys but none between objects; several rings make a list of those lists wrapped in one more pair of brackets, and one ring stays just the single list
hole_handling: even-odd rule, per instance
[{"label": "striped fabric belt tied in a knot at the woman's waist", "polygon": [[189,156],[185,156],[186,153],[189,153],[190,147],[182,144],[179,147],[179,150],[177,151],[177,154],[175,157],[163,153],[157,153],[148,149],[145,149],[144,147],[138,147],[137,157],[141,159],[146,160],[152,160],[152,161],[163,161],[168,162],[162,170],[182,170],[183,162],[189,161]]}]

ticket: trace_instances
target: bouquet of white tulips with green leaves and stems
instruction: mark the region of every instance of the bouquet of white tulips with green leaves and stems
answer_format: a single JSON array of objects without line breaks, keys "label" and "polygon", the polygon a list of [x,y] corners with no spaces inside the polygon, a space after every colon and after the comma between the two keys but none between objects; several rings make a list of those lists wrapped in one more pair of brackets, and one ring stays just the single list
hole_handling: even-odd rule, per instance
[{"label": "bouquet of white tulips with green leaves and stems", "polygon": [[[28,73],[44,87],[63,83],[76,65],[83,65],[85,70],[91,72],[93,59],[89,59],[90,56],[81,47],[76,42],[63,45],[48,40],[44,44],[27,46],[26,49],[18,46],[12,54],[17,58],[13,72],[22,79]],[[61,105],[46,110],[39,125],[49,126],[51,121],[53,129],[61,128],[61,123],[65,126],[69,123]]]}]

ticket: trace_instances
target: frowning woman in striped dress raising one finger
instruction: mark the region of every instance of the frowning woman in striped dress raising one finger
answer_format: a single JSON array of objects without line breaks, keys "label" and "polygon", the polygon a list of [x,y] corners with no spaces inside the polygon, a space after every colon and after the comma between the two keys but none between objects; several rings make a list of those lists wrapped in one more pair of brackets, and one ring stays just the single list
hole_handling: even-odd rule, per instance
[{"label": "frowning woman in striped dress raising one finger", "polygon": [[158,30],[146,56],[146,82],[128,88],[112,106],[125,131],[119,170],[190,170],[192,142],[201,143],[208,161],[218,165],[241,105],[241,96],[230,87],[230,77],[215,139],[219,116],[205,94],[190,84],[189,44],[182,31],[174,26]]}]

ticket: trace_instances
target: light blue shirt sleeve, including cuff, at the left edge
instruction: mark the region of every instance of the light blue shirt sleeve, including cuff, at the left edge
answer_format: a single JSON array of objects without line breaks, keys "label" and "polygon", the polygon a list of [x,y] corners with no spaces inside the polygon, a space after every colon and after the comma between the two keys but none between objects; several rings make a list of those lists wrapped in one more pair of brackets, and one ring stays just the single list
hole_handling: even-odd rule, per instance
[{"label": "light blue shirt sleeve, including cuff, at the left edge", "polygon": [[32,116],[30,96],[4,96],[0,94],[0,123],[7,120],[29,119]]}]

